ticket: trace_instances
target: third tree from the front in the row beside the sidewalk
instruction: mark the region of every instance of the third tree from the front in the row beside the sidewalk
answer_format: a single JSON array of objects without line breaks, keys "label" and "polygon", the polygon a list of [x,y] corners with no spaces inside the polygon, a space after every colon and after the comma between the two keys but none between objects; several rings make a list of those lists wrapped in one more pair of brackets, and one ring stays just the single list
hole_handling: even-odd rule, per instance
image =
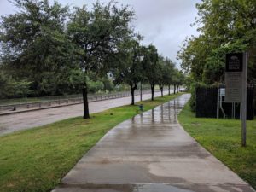
[{"label": "third tree from the front in the row beside the sidewalk", "polygon": [[154,86],[157,83],[158,70],[158,53],[153,44],[143,47],[143,70],[151,88],[151,100],[154,100]]}]

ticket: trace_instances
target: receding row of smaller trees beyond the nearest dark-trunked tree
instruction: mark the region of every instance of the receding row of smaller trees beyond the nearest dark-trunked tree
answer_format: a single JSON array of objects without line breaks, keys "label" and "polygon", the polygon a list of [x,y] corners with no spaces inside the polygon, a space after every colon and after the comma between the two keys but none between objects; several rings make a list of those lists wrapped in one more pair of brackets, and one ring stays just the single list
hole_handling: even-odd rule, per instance
[{"label": "receding row of smaller trees beyond the nearest dark-trunked tree", "polygon": [[175,64],[157,53],[154,45],[140,45],[140,35],[123,42],[119,47],[119,53],[113,62],[111,70],[115,84],[128,84],[131,88],[131,104],[134,105],[134,91],[139,83],[148,83],[151,88],[151,99],[154,100],[154,87],[159,85],[161,96],[163,96],[164,85],[174,84],[175,89],[183,84],[183,73],[175,68]]}]

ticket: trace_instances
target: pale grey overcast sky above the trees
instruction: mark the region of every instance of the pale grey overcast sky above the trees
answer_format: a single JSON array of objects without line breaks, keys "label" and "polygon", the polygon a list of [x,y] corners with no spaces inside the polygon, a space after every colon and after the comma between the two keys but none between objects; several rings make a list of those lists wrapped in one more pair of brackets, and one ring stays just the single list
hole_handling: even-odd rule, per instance
[{"label": "pale grey overcast sky above the trees", "polygon": [[[49,0],[53,2],[53,0]],[[91,5],[94,0],[58,0],[70,7]],[[100,2],[108,2],[101,0]],[[124,5],[128,4],[135,10],[137,20],[133,21],[136,32],[144,36],[143,44],[154,44],[159,53],[176,60],[177,51],[186,36],[198,35],[196,28],[190,24],[195,21],[197,10],[195,3],[200,0],[117,0]],[[15,13],[15,8],[8,0],[0,0],[0,15]]]}]

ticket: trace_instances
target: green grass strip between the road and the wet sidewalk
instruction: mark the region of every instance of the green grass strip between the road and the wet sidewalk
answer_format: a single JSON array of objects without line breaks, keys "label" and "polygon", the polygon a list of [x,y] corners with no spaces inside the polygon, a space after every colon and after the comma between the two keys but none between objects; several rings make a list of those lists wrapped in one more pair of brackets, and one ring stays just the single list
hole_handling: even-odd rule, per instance
[{"label": "green grass strip between the road and the wet sidewalk", "polygon": [[[176,96],[145,101],[144,109]],[[0,191],[50,191],[105,133],[137,113],[137,106],[112,108],[0,137]]]}]

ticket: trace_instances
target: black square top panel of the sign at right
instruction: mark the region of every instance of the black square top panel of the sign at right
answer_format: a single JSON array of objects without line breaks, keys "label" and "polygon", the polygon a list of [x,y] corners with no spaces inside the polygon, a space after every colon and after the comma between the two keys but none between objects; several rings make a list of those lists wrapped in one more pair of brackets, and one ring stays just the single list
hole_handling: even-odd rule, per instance
[{"label": "black square top panel of the sign at right", "polygon": [[242,72],[242,53],[226,55],[226,72]]}]

